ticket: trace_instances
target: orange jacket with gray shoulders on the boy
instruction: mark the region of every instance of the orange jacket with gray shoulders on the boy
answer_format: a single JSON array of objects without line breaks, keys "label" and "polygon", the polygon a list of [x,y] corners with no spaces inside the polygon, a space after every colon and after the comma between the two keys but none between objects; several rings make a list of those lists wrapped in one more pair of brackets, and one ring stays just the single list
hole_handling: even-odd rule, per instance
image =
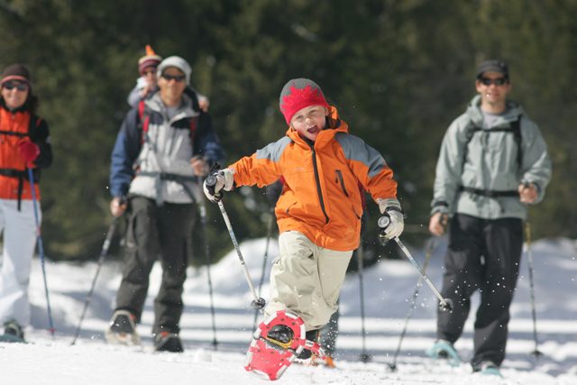
[{"label": "orange jacket with gray shoulders on the boy", "polygon": [[289,127],[287,135],[229,166],[236,186],[263,187],[285,180],[275,215],[280,232],[298,231],[318,246],[351,251],[359,246],[362,187],[374,200],[396,198],[397,182],[380,153],[349,134],[333,106],[334,128],[315,142]]}]

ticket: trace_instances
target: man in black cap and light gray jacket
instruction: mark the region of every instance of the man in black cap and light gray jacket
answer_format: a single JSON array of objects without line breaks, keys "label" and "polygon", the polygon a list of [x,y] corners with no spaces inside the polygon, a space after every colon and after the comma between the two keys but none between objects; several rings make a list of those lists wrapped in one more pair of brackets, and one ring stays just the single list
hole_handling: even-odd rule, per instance
[{"label": "man in black cap and light gray jacket", "polygon": [[545,196],[551,161],[537,125],[508,100],[507,64],[483,61],[475,86],[479,95],[449,126],[436,165],[429,231],[444,234],[451,217],[442,294],[453,300],[453,311],[439,310],[437,341],[427,353],[460,362],[453,344],[479,290],[472,369],[498,374],[517,284],[522,222],[527,205]]}]

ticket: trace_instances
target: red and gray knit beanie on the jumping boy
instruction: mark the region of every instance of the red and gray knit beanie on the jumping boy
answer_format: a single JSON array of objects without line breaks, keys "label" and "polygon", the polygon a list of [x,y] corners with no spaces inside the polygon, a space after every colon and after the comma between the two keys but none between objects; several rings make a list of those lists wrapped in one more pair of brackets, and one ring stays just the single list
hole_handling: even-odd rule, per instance
[{"label": "red and gray knit beanie on the jumping boy", "polygon": [[287,124],[298,111],[310,105],[322,105],[329,108],[321,87],[307,78],[294,78],[282,87],[279,98],[280,112]]}]

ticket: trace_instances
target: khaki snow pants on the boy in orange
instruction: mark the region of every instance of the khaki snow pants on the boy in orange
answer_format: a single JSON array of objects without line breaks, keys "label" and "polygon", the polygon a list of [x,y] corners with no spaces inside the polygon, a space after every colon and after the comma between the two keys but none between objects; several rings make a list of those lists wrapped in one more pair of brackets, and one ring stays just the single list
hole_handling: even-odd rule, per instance
[{"label": "khaki snow pants on the boy in orange", "polygon": [[338,308],[337,300],[353,251],[336,252],[317,246],[305,234],[279,235],[279,257],[270,270],[270,299],[265,316],[290,310],[308,330],[323,327]]}]

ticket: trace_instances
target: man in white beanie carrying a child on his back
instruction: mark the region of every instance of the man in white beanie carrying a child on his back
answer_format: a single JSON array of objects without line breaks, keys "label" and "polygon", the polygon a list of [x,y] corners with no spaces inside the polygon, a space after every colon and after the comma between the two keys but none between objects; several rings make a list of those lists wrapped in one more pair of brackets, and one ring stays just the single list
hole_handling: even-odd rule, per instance
[{"label": "man in white beanie carrying a child on his back", "polygon": [[[128,210],[123,280],[106,340],[139,344],[136,324],[157,256],[162,266],[152,334],[157,351],[182,352],[179,320],[198,179],[223,158],[210,117],[185,94],[188,62],[171,56],[157,69],[159,90],[126,115],[110,168],[110,209]],[[196,108],[195,108],[196,105]],[[127,202],[127,204],[126,204]]]}]

